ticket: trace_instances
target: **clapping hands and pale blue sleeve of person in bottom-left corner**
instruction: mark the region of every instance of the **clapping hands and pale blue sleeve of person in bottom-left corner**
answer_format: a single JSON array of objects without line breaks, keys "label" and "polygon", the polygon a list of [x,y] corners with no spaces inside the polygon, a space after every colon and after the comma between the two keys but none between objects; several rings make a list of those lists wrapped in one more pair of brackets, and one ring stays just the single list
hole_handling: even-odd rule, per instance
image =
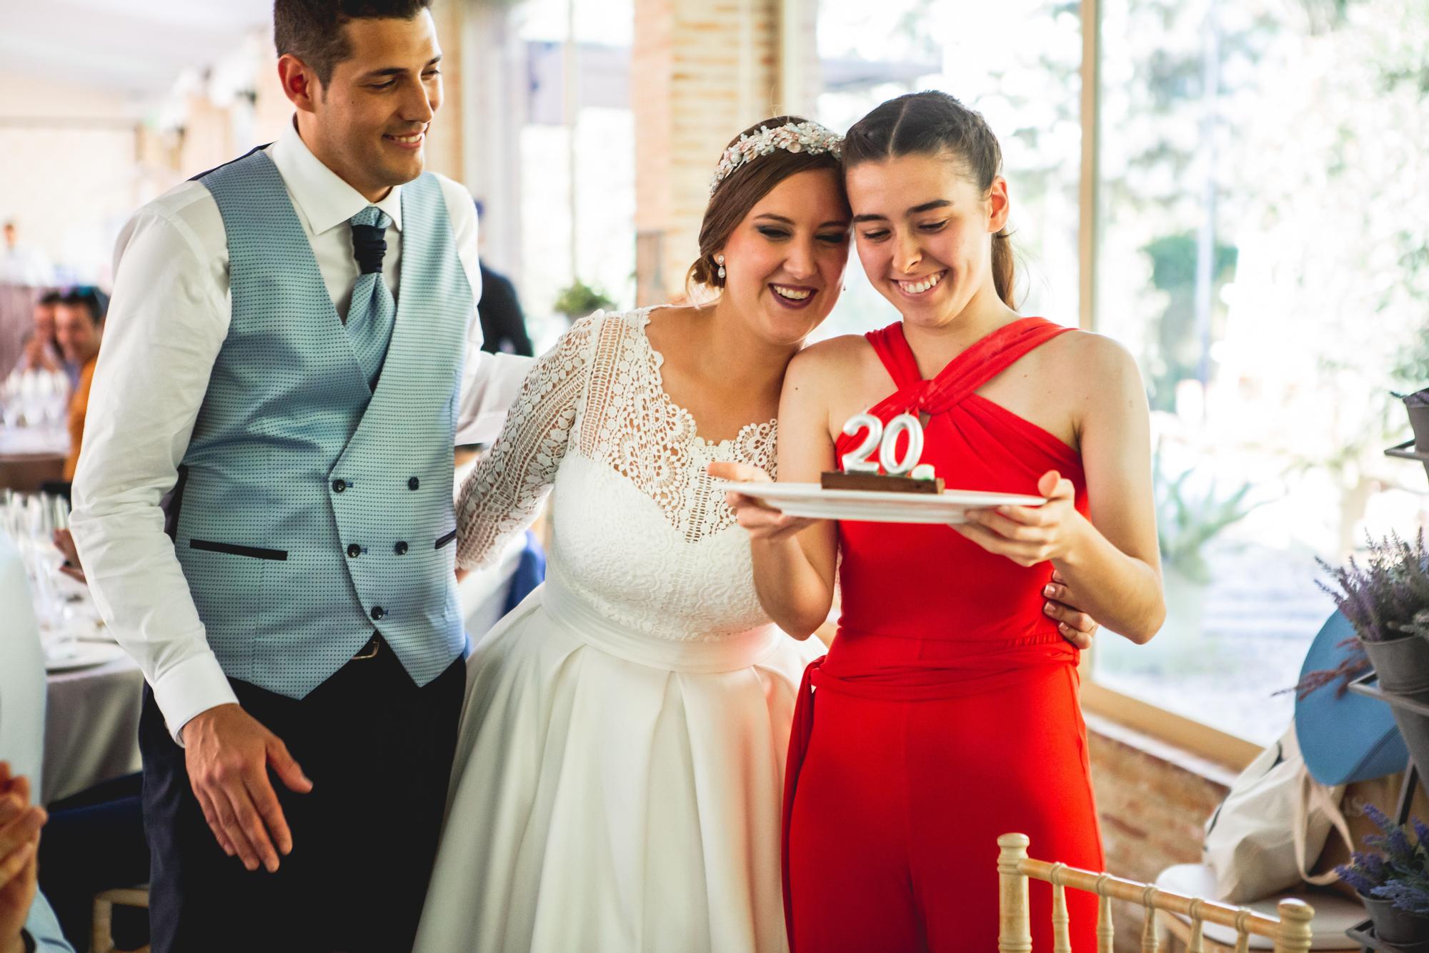
[{"label": "clapping hands and pale blue sleeve of person in bottom-left corner", "polygon": [[0,761],[0,953],[74,953],[36,880],[43,826],[29,778]]}]

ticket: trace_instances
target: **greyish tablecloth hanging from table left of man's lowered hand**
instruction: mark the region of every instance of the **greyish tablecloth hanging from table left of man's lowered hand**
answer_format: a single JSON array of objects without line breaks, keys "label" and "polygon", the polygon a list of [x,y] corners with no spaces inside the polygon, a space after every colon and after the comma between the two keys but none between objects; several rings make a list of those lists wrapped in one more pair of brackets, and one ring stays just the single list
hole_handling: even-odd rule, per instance
[{"label": "greyish tablecloth hanging from table left of man's lowered hand", "polygon": [[129,655],[50,673],[40,800],[50,804],[139,770],[144,675]]}]

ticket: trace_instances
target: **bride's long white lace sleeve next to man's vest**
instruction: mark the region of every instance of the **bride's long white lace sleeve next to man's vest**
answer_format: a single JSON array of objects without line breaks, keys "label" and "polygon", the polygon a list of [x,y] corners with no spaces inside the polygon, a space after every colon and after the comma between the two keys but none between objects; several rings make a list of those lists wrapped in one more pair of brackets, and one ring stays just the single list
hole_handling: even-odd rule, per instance
[{"label": "bride's long white lace sleeve next to man's vest", "polygon": [[536,361],[500,436],[462,484],[456,504],[459,567],[494,564],[512,537],[536,519],[566,454],[597,321],[599,313],[582,319]]}]

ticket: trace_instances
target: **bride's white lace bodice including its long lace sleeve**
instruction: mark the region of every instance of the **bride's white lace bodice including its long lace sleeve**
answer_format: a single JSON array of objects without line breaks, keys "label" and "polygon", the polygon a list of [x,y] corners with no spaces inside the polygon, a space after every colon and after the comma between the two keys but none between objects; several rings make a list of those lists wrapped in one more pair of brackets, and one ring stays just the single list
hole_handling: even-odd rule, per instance
[{"label": "bride's white lace bodice including its long lace sleeve", "polygon": [[609,620],[673,640],[767,622],[749,539],[704,472],[775,466],[775,421],[710,444],[664,394],[650,311],[596,313],[543,355],[462,487],[457,561],[494,561],[553,488],[549,572]]}]

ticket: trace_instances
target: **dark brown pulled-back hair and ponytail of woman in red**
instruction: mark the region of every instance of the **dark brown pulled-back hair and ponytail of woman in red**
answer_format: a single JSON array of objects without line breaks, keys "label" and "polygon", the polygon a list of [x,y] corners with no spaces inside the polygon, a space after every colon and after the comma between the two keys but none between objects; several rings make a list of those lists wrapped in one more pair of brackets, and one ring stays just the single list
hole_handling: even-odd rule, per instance
[{"label": "dark brown pulled-back hair and ponytail of woman in red", "polygon": [[[983,195],[1002,172],[1002,146],[982,113],[937,90],[887,100],[853,123],[843,140],[845,169],[902,156],[956,162]],[[1012,279],[1012,238],[1002,229],[992,236],[992,280],[1007,308],[1016,308]]]}]

